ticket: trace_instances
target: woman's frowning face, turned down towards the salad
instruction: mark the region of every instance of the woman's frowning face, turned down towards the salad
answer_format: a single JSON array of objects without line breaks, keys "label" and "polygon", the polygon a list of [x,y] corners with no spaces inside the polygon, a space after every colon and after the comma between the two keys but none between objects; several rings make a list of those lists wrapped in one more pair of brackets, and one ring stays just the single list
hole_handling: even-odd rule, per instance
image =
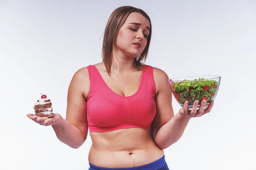
[{"label": "woman's frowning face, turned down towards the salad", "polygon": [[119,56],[134,59],[140,56],[147,45],[150,22],[142,14],[131,13],[117,36],[116,53]]}]

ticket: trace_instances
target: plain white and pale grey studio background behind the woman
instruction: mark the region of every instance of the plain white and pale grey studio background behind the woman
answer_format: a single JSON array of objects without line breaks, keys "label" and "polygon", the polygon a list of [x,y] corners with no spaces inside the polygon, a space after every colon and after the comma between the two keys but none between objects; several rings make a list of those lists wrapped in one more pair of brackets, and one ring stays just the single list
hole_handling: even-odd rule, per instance
[{"label": "plain white and pale grey studio background behind the woman", "polygon": [[0,0],[0,169],[88,169],[90,136],[72,149],[26,114],[42,93],[66,116],[73,74],[101,62],[105,24],[123,5],[151,17],[146,64],[169,78],[222,77],[211,113],[165,150],[170,170],[255,170],[255,0]]}]

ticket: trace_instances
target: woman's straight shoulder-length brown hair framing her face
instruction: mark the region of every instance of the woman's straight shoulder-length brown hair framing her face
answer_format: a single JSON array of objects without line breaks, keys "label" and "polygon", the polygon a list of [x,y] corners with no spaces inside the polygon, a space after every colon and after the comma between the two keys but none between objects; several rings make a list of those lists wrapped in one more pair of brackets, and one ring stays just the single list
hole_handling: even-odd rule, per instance
[{"label": "woman's straight shoulder-length brown hair framing her face", "polygon": [[137,67],[137,69],[141,68],[141,63],[145,62],[147,58],[152,32],[151,20],[148,17],[148,14],[146,14],[142,9],[135,8],[132,6],[121,6],[119,8],[116,8],[108,19],[108,23],[104,31],[104,39],[102,45],[102,61],[105,64],[105,67],[109,75],[111,74],[110,72],[113,47],[116,47],[118,32],[125,23],[125,20],[129,16],[129,14],[131,14],[132,12],[142,14],[145,18],[149,20],[150,23],[150,32],[147,37],[147,45],[145,46],[145,49],[140,54],[140,56],[134,58],[134,65]]}]

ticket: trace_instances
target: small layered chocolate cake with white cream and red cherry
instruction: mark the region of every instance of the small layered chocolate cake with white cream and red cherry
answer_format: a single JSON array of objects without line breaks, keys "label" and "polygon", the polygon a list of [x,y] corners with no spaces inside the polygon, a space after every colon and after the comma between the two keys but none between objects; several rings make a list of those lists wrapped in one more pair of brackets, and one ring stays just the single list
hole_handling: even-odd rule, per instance
[{"label": "small layered chocolate cake with white cream and red cherry", "polygon": [[42,95],[41,99],[35,102],[34,110],[35,116],[48,118],[53,117],[52,102],[46,95]]}]

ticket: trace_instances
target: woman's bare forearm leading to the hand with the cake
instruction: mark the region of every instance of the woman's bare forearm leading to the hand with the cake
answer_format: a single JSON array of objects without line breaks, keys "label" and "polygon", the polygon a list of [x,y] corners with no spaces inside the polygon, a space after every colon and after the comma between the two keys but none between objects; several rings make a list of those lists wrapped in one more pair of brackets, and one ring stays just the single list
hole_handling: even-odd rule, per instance
[{"label": "woman's bare forearm leading to the hand with the cake", "polygon": [[78,148],[85,141],[81,130],[76,126],[71,125],[64,118],[61,118],[61,121],[57,125],[52,125],[52,128],[55,131],[57,138],[70,147]]}]

